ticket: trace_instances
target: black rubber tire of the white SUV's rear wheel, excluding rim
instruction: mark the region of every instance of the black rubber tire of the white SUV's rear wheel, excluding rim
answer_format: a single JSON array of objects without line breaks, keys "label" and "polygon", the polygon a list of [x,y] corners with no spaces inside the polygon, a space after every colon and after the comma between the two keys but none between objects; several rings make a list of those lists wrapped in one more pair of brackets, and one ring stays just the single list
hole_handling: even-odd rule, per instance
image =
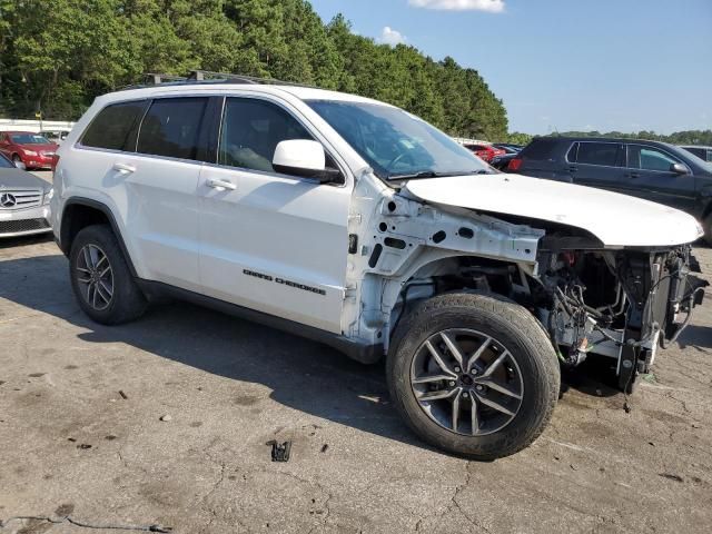
[{"label": "black rubber tire of the white SUV's rear wheel, excluding rim", "polygon": [[[106,304],[103,309],[97,309],[92,305],[87,297],[87,286],[81,281],[81,278],[87,276],[86,269],[80,270],[80,267],[86,265],[86,261],[82,261],[87,246],[97,247],[103,253],[111,268],[112,291],[107,303],[100,303]],[[137,319],[146,312],[146,297],[134,280],[123,253],[108,225],[88,226],[77,234],[69,253],[69,277],[79,306],[97,323],[120,325]]]}]

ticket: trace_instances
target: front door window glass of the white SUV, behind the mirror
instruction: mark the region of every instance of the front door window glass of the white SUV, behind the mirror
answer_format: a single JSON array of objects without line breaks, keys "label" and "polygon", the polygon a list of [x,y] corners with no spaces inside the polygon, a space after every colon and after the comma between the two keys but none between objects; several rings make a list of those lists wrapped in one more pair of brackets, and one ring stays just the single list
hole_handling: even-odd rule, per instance
[{"label": "front door window glass of the white SUV, behind the mirror", "polygon": [[[228,98],[225,105],[218,164],[276,172],[275,149],[288,139],[313,139],[288,112],[264,100]],[[328,159],[327,159],[328,160]]]}]

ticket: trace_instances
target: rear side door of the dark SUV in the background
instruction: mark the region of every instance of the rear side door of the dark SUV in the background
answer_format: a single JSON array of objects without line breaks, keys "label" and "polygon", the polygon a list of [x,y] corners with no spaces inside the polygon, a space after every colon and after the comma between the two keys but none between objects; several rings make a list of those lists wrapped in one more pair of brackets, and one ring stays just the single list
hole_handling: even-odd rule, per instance
[{"label": "rear side door of the dark SUV in the background", "polygon": [[566,154],[574,184],[620,191],[624,147],[620,142],[577,141]]}]

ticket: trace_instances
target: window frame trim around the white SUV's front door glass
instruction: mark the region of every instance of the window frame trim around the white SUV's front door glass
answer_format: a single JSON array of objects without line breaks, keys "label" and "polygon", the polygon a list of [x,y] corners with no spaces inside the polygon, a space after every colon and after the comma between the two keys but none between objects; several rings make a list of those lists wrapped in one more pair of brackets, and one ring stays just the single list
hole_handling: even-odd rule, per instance
[{"label": "window frame trim around the white SUV's front door glass", "polygon": [[[307,134],[309,134],[313,138],[313,140],[317,141],[319,145],[322,145],[322,148],[324,148],[324,151],[326,152],[326,155],[328,157],[332,158],[332,160],[337,165],[339,172],[342,174],[342,179],[339,181],[333,181],[333,182],[327,182],[327,184],[319,184],[318,180],[314,179],[314,178],[305,178],[301,176],[295,176],[295,175],[285,175],[281,172],[270,172],[268,170],[257,170],[257,169],[249,169],[249,168],[245,168],[245,167],[235,167],[231,165],[222,165],[219,164],[219,154],[220,154],[220,141],[222,138],[222,123],[225,121],[225,110],[227,108],[227,99],[228,98],[233,98],[233,99],[240,99],[240,100],[261,100],[265,101],[267,103],[271,103],[274,106],[277,106],[278,108],[280,108],[283,111],[285,111],[289,117],[291,117],[294,120],[296,120],[299,126],[301,126]],[[275,100],[273,98],[269,98],[268,95],[256,95],[256,93],[243,93],[243,95],[235,95],[235,93],[228,93],[228,95],[222,95],[222,106],[220,109],[220,117],[219,117],[219,125],[218,125],[218,137],[217,137],[217,144],[215,146],[215,155],[214,155],[214,161],[209,161],[206,162],[206,165],[212,166],[212,167],[217,167],[219,169],[227,169],[227,170],[238,170],[240,172],[254,172],[256,175],[260,175],[260,176],[269,176],[269,177],[274,177],[274,178],[287,178],[289,180],[298,180],[298,181],[305,181],[307,184],[315,184],[315,185],[322,185],[322,186],[332,186],[332,187],[346,187],[348,180],[347,180],[347,174],[344,171],[345,168],[347,168],[340,160],[339,158],[335,157],[334,154],[337,154],[335,150],[330,149],[330,147],[327,146],[327,144],[325,142],[325,139],[323,139],[323,136],[317,134],[317,129],[314,128],[314,126],[306,121],[306,120],[301,120],[300,117],[297,117],[296,113],[293,112],[291,109],[289,109],[287,106],[283,105],[281,102],[279,102],[278,100]],[[212,147],[210,147],[212,148]]]}]

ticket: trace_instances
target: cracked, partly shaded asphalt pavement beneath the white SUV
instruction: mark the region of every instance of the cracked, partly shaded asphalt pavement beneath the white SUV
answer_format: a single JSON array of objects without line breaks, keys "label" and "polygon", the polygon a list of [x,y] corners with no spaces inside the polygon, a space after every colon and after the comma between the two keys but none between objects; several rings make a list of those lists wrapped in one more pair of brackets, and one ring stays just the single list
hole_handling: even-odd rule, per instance
[{"label": "cracked, partly shaded asphalt pavement beneath the white SUV", "polygon": [[[712,530],[710,290],[631,413],[589,365],[533,446],[474,463],[411,434],[383,366],[182,303],[99,326],[51,240],[0,247],[0,518],[71,510],[206,534]],[[712,273],[712,250],[696,254]],[[270,461],[270,439],[293,441],[289,462]]]}]

